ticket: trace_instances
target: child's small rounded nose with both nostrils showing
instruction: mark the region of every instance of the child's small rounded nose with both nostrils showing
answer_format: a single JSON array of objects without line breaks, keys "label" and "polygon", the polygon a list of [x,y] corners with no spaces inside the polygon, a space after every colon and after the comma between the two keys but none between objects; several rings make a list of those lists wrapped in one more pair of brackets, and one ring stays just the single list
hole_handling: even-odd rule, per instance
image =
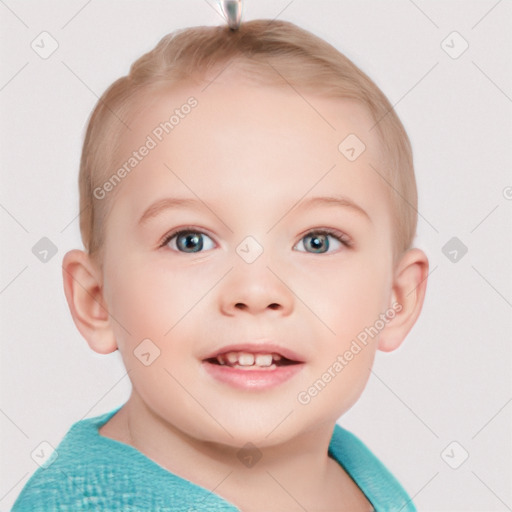
[{"label": "child's small rounded nose with both nostrils showing", "polygon": [[263,258],[251,264],[244,261],[235,263],[219,290],[222,313],[229,316],[265,312],[289,315],[295,297],[285,276],[279,274],[279,271],[269,268]]}]

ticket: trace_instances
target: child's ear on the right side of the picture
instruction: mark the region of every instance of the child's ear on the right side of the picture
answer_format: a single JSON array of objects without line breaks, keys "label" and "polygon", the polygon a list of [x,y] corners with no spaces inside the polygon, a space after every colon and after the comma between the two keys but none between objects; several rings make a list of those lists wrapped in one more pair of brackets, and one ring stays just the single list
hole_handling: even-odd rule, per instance
[{"label": "child's ear on the right side of the picture", "polygon": [[410,249],[398,262],[393,278],[391,303],[388,311],[394,316],[381,331],[378,349],[391,352],[397,349],[416,322],[427,289],[428,259],[420,249]]}]

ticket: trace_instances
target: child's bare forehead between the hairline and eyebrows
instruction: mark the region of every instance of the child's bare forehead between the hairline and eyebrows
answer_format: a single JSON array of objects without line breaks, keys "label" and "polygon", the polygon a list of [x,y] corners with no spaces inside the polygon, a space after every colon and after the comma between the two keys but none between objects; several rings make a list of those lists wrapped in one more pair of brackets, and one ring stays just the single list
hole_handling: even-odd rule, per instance
[{"label": "child's bare forehead between the hairline and eyebrows", "polygon": [[313,189],[336,189],[350,190],[357,202],[373,198],[367,206],[375,209],[383,194],[369,165],[382,161],[373,124],[353,101],[229,75],[146,94],[120,140],[117,165],[140,158],[133,154],[144,146],[151,149],[132,162],[116,203],[140,212],[152,200],[181,192],[206,201],[215,196],[224,205],[244,196],[256,206],[262,199],[295,203]]}]

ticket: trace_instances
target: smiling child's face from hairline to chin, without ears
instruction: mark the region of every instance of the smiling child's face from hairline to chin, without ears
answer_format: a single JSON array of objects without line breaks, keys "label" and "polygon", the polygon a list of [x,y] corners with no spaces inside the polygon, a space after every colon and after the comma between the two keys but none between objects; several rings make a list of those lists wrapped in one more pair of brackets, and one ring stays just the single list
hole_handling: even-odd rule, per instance
[{"label": "smiling child's face from hairline to chin, without ears", "polygon": [[[197,106],[158,140],[155,128],[190,96]],[[204,92],[182,85],[141,111],[119,163],[148,136],[156,147],[117,185],[103,275],[135,393],[201,440],[262,446],[332,425],[366,385],[378,336],[357,353],[353,340],[381,326],[393,302],[393,226],[370,115],[222,77]],[[355,161],[338,149],[349,134],[366,145]],[[312,201],[335,196],[343,200]],[[167,198],[188,202],[141,222]],[[352,245],[312,233],[325,229]],[[175,230],[192,233],[160,247]],[[146,362],[155,346],[148,366],[134,354]],[[254,371],[207,361],[226,350],[300,363]]]}]

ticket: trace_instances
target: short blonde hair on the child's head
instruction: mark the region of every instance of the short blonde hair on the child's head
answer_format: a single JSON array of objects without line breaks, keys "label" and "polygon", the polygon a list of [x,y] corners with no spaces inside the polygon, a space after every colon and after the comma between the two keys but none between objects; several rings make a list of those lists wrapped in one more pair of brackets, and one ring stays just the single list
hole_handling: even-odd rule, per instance
[{"label": "short blonde hair on the child's head", "polygon": [[319,96],[351,99],[368,109],[387,157],[385,168],[375,170],[387,182],[391,199],[395,256],[407,250],[416,232],[416,181],[409,138],[392,105],[365,73],[326,41],[290,22],[253,20],[236,31],[201,26],[168,34],[98,100],[89,119],[79,174],[80,231],[89,255],[101,265],[104,227],[114,194],[104,201],[94,190],[112,174],[137,98],[155,87],[214,76],[216,69],[232,61],[255,82],[290,83]]}]

